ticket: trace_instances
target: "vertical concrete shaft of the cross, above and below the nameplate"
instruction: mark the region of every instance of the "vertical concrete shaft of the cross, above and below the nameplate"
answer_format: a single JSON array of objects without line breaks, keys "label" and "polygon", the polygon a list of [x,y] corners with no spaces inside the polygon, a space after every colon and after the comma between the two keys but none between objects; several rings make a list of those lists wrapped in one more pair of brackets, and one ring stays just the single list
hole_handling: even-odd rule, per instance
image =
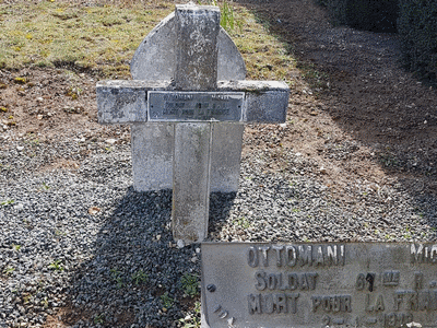
[{"label": "vertical concrete shaft of the cross, above and below the nameplate", "polygon": [[[220,10],[177,5],[176,30],[176,89],[216,90]],[[186,243],[203,241],[208,235],[211,136],[210,122],[175,125],[173,236]]]}]

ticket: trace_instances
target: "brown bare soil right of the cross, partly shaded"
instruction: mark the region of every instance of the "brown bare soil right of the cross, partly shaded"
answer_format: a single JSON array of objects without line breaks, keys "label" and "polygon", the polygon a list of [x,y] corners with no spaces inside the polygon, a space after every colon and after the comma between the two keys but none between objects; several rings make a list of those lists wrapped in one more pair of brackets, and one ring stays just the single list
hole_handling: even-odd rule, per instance
[{"label": "brown bare soil right of the cross, partly shaded", "polygon": [[334,27],[309,0],[245,5],[298,58],[282,151],[306,156],[338,199],[355,181],[437,191],[437,93],[402,69],[397,34]]}]

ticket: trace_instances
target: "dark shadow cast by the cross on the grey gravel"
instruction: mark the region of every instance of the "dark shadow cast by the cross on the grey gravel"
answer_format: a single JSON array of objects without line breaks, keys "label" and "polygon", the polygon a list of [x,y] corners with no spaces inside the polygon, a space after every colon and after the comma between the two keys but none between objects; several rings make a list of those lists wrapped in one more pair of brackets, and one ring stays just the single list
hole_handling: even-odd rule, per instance
[{"label": "dark shadow cast by the cross on the grey gravel", "polygon": [[170,214],[170,190],[127,190],[97,233],[94,254],[69,283],[64,324],[175,327],[182,312],[193,308],[198,296],[186,295],[180,279],[191,274],[197,288],[199,246],[176,248]]}]

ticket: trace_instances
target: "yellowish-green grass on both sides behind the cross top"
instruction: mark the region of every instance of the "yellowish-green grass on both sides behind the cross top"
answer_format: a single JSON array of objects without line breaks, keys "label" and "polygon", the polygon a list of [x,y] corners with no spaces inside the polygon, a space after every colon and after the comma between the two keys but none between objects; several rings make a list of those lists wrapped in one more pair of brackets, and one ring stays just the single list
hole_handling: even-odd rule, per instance
[{"label": "yellowish-green grass on both sides behind the cross top", "polygon": [[[246,61],[248,79],[290,82],[290,71],[296,67],[290,46],[272,36],[269,25],[248,9],[232,2],[218,5],[222,24]],[[141,40],[173,10],[173,3],[151,1],[94,7],[57,1],[0,4],[0,68],[57,67],[126,78]],[[78,87],[71,90],[71,97],[80,96]]]}]

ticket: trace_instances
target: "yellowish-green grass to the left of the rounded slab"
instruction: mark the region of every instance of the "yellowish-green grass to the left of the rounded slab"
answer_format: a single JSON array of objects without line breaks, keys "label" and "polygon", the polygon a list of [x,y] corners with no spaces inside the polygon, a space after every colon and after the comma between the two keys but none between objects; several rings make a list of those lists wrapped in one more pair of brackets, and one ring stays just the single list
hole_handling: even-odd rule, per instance
[{"label": "yellowish-green grass to the left of the rounded slab", "polygon": [[139,4],[0,4],[0,68],[25,66],[93,69],[129,74],[129,60],[144,36],[172,10]]}]

